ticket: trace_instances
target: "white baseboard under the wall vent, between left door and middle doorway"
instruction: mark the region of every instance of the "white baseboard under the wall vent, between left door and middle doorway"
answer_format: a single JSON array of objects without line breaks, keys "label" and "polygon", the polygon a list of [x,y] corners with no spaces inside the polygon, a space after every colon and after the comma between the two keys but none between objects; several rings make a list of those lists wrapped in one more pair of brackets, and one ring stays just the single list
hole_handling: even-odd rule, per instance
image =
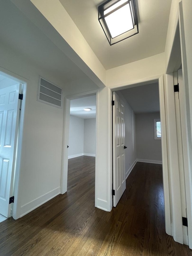
[{"label": "white baseboard under the wall vent, between left door and middle doorway", "polygon": [[20,217],[26,215],[27,213],[31,212],[32,210],[36,209],[40,205],[46,203],[53,197],[57,196],[60,194],[60,187],[53,189],[52,191],[49,191],[48,193],[32,200],[29,203],[26,203],[21,206],[21,212],[20,212]]}]

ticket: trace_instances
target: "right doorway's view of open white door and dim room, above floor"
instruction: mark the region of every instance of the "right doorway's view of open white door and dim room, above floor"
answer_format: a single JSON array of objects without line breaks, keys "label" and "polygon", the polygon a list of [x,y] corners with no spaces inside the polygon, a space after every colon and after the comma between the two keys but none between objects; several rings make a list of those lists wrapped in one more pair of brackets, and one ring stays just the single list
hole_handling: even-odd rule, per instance
[{"label": "right doorway's view of open white door and dim room, above floor", "polygon": [[113,206],[116,206],[125,191],[125,186],[121,188],[126,183],[124,177],[128,178],[137,162],[162,164],[161,126],[156,139],[157,125],[154,125],[155,120],[160,120],[158,82],[113,92],[114,99]]}]

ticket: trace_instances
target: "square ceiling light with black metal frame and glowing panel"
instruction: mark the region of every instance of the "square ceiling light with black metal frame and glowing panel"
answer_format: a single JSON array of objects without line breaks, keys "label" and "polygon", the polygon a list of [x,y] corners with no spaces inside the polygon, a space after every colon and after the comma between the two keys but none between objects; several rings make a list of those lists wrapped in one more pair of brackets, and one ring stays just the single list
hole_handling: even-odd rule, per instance
[{"label": "square ceiling light with black metal frame and glowing panel", "polygon": [[109,0],[98,7],[98,20],[110,45],[139,33],[134,0]]}]

